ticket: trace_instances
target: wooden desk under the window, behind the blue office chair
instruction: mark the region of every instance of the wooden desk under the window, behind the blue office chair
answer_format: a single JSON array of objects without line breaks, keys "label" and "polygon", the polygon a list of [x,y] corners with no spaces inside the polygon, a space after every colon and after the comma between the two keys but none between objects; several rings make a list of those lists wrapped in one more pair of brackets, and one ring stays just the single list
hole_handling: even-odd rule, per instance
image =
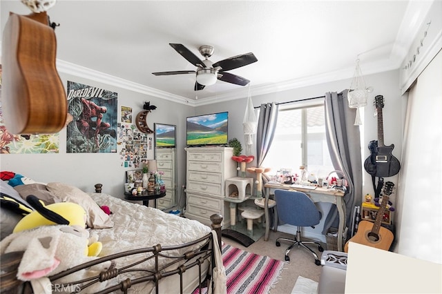
[{"label": "wooden desk under the window, behind the blue office chair", "polygon": [[[276,189],[282,190],[297,190],[300,192],[304,192],[309,195],[313,202],[329,202],[332,204],[336,204],[339,213],[339,228],[338,232],[338,250],[342,251],[343,248],[343,232],[345,229],[345,202],[343,199],[344,193],[342,190],[328,189],[328,188],[316,188],[314,190],[311,189],[303,189],[303,188],[292,188],[287,184],[265,184],[264,187],[267,189],[267,193],[265,193],[265,236],[264,240],[267,241],[269,239],[269,195],[274,195],[274,191]],[[278,203],[276,204],[278,205]],[[276,228],[276,226],[275,226]]]}]

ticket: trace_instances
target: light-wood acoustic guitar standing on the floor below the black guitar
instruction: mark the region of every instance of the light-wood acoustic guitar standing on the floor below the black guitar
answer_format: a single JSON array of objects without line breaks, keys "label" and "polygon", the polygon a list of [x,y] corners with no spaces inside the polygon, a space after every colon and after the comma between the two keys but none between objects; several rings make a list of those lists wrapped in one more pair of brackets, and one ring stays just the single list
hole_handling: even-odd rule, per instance
[{"label": "light-wood acoustic guitar standing on the floor below the black guitar", "polygon": [[381,205],[379,206],[378,214],[374,223],[369,221],[361,221],[358,224],[358,231],[344,246],[344,251],[348,252],[349,242],[355,242],[371,246],[378,249],[388,250],[392,246],[394,235],[392,231],[381,226],[385,208],[389,200],[389,195],[392,194],[394,184],[392,182],[386,182]]}]

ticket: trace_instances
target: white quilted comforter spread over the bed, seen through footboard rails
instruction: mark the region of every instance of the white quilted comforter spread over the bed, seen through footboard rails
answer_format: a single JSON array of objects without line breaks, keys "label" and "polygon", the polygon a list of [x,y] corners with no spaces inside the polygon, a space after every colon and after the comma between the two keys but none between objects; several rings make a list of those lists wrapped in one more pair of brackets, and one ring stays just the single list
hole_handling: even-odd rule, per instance
[{"label": "white quilted comforter spread over the bed, seen through footboard rails", "polygon": [[[90,231],[91,234],[97,234],[99,242],[103,244],[103,249],[99,256],[151,247],[157,244],[161,244],[162,247],[184,244],[204,237],[211,232],[209,226],[192,219],[185,219],[171,213],[164,213],[162,210],[126,202],[111,195],[99,193],[89,193],[89,195],[99,206],[106,205],[111,208],[111,219],[114,222],[113,228],[93,229]],[[179,252],[171,251],[169,256],[182,254],[186,251],[189,251],[189,248],[186,250],[182,249]],[[131,258],[133,259],[133,257],[117,259],[115,261],[117,268],[127,264]],[[154,260],[151,259],[148,261],[148,264],[143,263],[142,266],[153,268],[153,262]],[[170,260],[160,259],[160,266],[166,262],[170,262]],[[204,273],[208,266],[209,264],[206,263]],[[177,279],[179,277],[174,275],[169,278]],[[160,281],[160,292],[179,293],[179,280],[169,280],[167,282],[169,278]],[[185,292],[191,292],[198,286],[198,268],[189,271],[187,275],[184,275],[184,278]],[[124,277],[118,278],[118,280],[122,279],[124,280]],[[152,282],[137,284],[129,292],[150,293],[152,289],[155,290],[153,287]]]}]

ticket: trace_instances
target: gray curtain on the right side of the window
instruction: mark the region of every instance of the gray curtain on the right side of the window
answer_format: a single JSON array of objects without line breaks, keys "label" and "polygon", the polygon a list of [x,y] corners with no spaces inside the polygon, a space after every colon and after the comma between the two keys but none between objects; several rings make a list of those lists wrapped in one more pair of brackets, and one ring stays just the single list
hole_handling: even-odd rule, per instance
[{"label": "gray curtain on the right side of the window", "polygon": [[[362,159],[359,127],[354,126],[356,109],[348,107],[347,92],[325,93],[325,134],[334,169],[341,170],[348,182],[344,195],[348,226],[352,224],[354,206],[362,202]],[[337,228],[338,223],[338,209],[332,206],[325,219],[323,234],[331,226]]]}]

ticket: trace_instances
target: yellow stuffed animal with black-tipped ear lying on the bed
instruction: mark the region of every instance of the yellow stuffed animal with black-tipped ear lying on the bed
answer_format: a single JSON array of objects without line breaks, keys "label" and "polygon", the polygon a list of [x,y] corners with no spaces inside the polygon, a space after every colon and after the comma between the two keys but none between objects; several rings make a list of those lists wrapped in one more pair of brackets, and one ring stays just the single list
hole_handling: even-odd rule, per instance
[{"label": "yellow stuffed animal with black-tipped ear lying on the bed", "polygon": [[[79,204],[71,202],[59,202],[45,206],[34,195],[26,197],[26,201],[35,208],[35,211],[23,217],[14,228],[13,233],[37,228],[39,226],[51,226],[57,224],[67,224],[77,226],[86,231],[86,210]],[[98,256],[102,251],[103,245],[98,242],[96,236],[88,238],[88,246],[85,248],[85,255]]]}]

